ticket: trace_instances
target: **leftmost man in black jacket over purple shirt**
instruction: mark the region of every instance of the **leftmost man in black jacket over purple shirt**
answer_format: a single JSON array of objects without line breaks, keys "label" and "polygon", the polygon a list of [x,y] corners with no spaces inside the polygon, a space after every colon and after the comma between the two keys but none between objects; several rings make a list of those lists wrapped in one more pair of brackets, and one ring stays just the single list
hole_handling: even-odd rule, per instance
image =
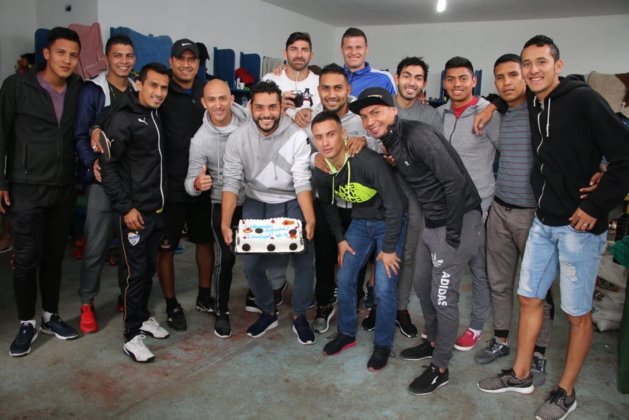
[{"label": "leftmost man in black jacket over purple shirt", "polygon": [[73,72],[80,51],[76,32],[55,27],[44,47],[46,63],[8,77],[0,90],[0,212],[6,211],[11,221],[20,318],[11,356],[27,355],[37,339],[38,277],[44,309],[40,331],[62,340],[79,335],[57,312],[61,261],[76,199],[72,129],[82,83]]}]

